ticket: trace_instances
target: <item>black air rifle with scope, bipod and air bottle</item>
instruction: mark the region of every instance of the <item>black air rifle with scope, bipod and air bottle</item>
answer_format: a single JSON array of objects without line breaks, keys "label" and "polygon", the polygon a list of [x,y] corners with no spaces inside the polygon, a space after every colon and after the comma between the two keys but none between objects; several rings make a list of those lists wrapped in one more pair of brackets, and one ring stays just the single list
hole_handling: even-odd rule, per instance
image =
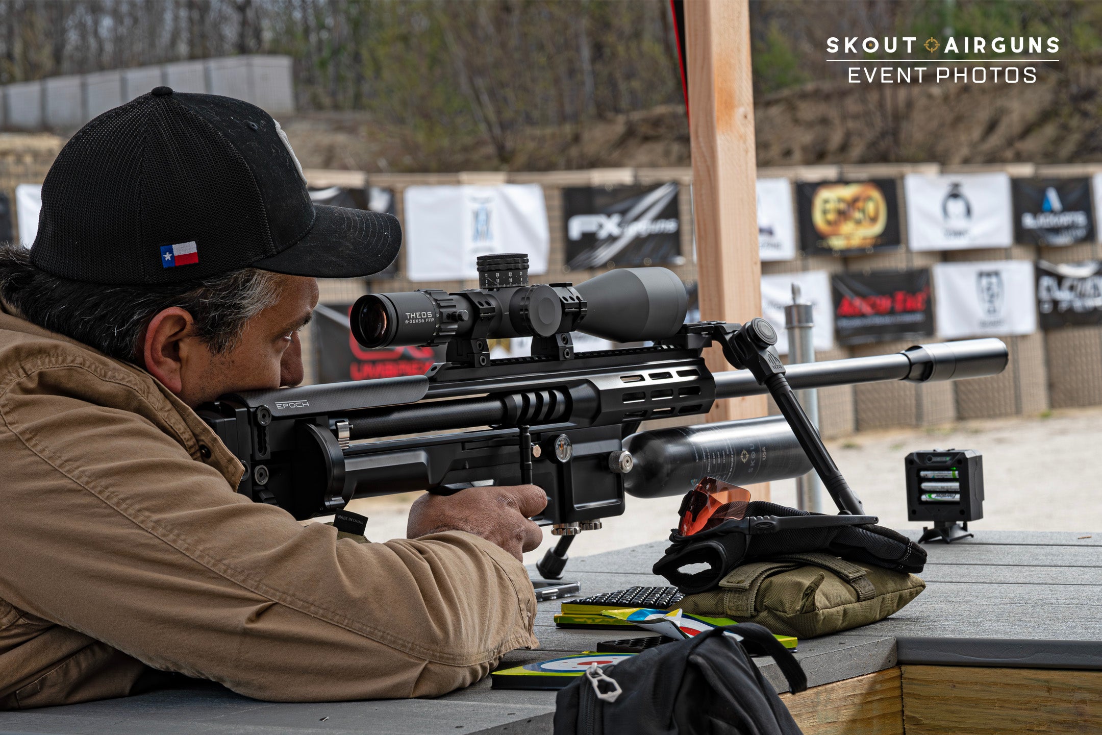
[{"label": "black air rifle with scope, bipod and air bottle", "polygon": [[[539,565],[557,579],[574,534],[623,514],[625,491],[681,495],[705,476],[745,485],[813,467],[847,517],[831,518],[875,522],[792,390],[982,377],[1007,363],[1006,346],[988,338],[786,367],[765,320],[685,324],[684,287],[665,268],[529,284],[527,257],[499,255],[478,258],[478,289],[368,294],[353,306],[353,334],[367,348],[445,346],[445,361],[423,376],[238,392],[201,407],[245,465],[238,491],[301,520],[353,498],[532,483],[548,496],[534,520],[563,537]],[[651,344],[575,353],[574,331]],[[522,336],[532,337],[530,357],[490,359],[489,339]],[[741,369],[709,371],[702,353],[713,344]],[[782,417],[636,433],[642,421],[765,392]]]}]

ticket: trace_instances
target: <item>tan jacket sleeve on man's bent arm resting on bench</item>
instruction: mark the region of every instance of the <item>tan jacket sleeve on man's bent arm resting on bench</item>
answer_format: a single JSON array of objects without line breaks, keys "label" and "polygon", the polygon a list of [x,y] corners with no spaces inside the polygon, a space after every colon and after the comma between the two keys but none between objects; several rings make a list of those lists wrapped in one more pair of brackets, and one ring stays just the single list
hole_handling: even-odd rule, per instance
[{"label": "tan jacket sleeve on man's bent arm resting on bench", "polygon": [[[235,494],[149,422],[58,409],[25,443],[0,432],[6,472],[24,478],[6,485],[0,558],[18,563],[0,573],[0,597],[32,615],[153,668],[285,701],[440,694],[534,645],[527,573],[484,539],[338,541]],[[127,452],[77,435],[32,451],[62,420],[110,431]]]}]

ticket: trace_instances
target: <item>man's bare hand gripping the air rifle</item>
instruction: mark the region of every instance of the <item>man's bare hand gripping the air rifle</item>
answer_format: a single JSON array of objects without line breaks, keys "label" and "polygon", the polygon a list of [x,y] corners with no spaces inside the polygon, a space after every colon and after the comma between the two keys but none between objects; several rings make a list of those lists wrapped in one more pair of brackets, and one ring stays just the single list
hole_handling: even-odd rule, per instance
[{"label": "man's bare hand gripping the air rifle", "polygon": [[543,532],[529,517],[543,510],[547,502],[547,495],[534,485],[468,487],[454,495],[426,493],[410,508],[406,536],[415,539],[443,531],[466,531],[522,560],[523,552],[543,541]]}]

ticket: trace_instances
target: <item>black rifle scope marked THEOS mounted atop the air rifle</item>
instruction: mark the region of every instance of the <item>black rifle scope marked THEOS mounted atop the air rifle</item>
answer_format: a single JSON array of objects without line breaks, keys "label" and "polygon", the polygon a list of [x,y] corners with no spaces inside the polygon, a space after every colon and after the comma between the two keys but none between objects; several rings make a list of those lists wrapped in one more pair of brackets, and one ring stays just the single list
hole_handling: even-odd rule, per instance
[{"label": "black rifle scope marked THEOS mounted atop the air rifle", "polygon": [[674,335],[688,303],[684,284],[666,268],[612,270],[576,287],[529,284],[528,256],[504,253],[478,258],[477,289],[370,293],[353,305],[349,322],[367,348],[547,338],[574,329],[638,342]]}]

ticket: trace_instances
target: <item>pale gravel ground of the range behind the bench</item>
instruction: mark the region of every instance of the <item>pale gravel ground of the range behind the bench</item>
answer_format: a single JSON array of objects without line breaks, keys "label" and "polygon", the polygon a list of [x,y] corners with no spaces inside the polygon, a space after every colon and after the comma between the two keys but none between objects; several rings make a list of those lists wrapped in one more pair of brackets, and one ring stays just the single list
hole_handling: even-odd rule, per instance
[{"label": "pale gravel ground of the range behind the bench", "polygon": [[[1040,417],[961,421],[927,429],[854,434],[827,443],[842,473],[865,505],[893,528],[919,528],[906,519],[903,461],[916,450],[966,448],[983,454],[984,518],[992,530],[1102,531],[1099,458],[1102,408],[1061,409]],[[771,486],[773,500],[796,505],[796,483]],[[406,536],[406,512],[415,493],[354,500],[352,509],[371,518],[368,537],[385,541]],[[627,511],[605,520],[599,531],[582,533],[571,555],[585,555],[663,539],[677,522],[680,498],[628,498]],[[1062,509],[1063,512],[1059,512]],[[554,543],[543,545],[526,562]]]}]

